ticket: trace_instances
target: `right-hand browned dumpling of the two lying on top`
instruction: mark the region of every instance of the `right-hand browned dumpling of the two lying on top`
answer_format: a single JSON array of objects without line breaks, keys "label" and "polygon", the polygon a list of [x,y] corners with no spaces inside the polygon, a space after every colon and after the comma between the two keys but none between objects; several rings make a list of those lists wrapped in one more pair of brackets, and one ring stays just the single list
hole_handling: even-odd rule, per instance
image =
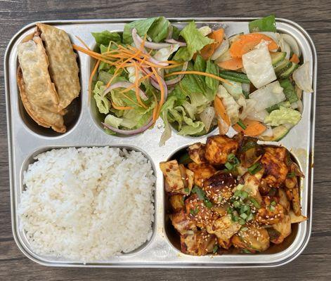
[{"label": "right-hand browned dumpling of the two lying on top", "polygon": [[79,96],[79,68],[69,36],[51,25],[37,23],[41,39],[45,43],[49,60],[49,73],[56,85],[59,107],[63,109]]}]

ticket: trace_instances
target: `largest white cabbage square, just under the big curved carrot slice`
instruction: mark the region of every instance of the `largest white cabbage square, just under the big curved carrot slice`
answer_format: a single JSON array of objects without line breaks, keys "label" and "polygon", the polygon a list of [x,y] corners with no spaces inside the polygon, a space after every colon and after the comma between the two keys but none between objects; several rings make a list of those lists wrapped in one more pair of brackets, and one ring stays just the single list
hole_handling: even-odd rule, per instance
[{"label": "largest white cabbage square, just under the big curved carrot slice", "polygon": [[257,89],[277,79],[265,42],[259,44],[253,51],[242,55],[242,65],[247,77]]}]

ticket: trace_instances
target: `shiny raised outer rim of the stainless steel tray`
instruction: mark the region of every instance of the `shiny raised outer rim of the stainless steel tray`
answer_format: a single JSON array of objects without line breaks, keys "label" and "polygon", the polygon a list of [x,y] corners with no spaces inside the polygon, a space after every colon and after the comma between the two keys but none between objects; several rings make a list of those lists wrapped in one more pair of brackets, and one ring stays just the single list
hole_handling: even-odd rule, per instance
[{"label": "shiny raised outer rim of the stainless steel tray", "polygon": [[[27,29],[30,29],[33,27],[37,22],[45,22],[45,23],[50,23],[50,24],[56,24],[56,25],[63,25],[63,24],[89,24],[89,23],[124,23],[132,20],[138,20],[141,18],[112,18],[112,19],[87,19],[87,20],[41,20],[41,21],[36,21],[36,22],[31,22],[28,25],[25,25],[22,27],[13,37],[12,39],[8,42],[8,46],[6,48],[6,52],[4,55],[4,81],[5,81],[5,93],[6,93],[6,117],[7,117],[7,133],[8,133],[8,168],[9,168],[9,181],[10,181],[10,190],[11,190],[11,217],[12,217],[12,231],[13,231],[13,237],[18,245],[18,248],[22,251],[25,256],[27,256],[29,259],[32,259],[32,261],[35,261],[41,265],[44,266],[60,266],[60,267],[96,267],[96,268],[229,268],[229,267],[239,267],[239,268],[250,268],[250,267],[274,267],[274,266],[280,266],[286,263],[289,263],[293,259],[296,259],[299,254],[305,249],[306,245],[309,242],[309,239],[311,237],[311,228],[312,228],[312,218],[313,218],[313,158],[314,158],[314,136],[315,136],[315,122],[316,122],[316,81],[317,81],[317,53],[316,53],[316,47],[313,44],[313,40],[309,36],[308,32],[304,30],[303,27],[301,27],[297,22],[294,22],[292,20],[287,20],[285,18],[276,18],[276,20],[285,22],[289,25],[292,25],[292,27],[297,28],[299,32],[304,34],[306,37],[307,41],[309,42],[309,45],[311,47],[311,52],[313,55],[313,97],[311,98],[311,122],[309,124],[309,128],[311,130],[310,136],[309,136],[309,142],[311,146],[311,154],[309,154],[309,162],[311,162],[311,167],[309,168],[309,176],[310,176],[310,181],[309,181],[309,198],[307,202],[310,204],[309,212],[307,212],[307,215],[309,216],[309,221],[307,221],[307,229],[306,235],[304,236],[304,242],[300,242],[299,246],[297,247],[296,250],[293,251],[293,253],[290,256],[287,256],[280,261],[276,261],[274,263],[247,263],[247,264],[242,264],[242,263],[206,263],[202,261],[201,263],[191,263],[189,265],[185,265],[183,263],[178,263],[176,265],[176,262],[174,263],[115,263],[115,264],[104,264],[104,263],[88,263],[86,265],[84,264],[74,264],[74,263],[69,263],[69,264],[61,264],[61,263],[50,263],[48,261],[41,261],[39,259],[34,259],[33,256],[30,256],[29,253],[22,247],[19,241],[19,237],[17,237],[17,233],[15,230],[15,226],[13,223],[13,213],[15,212],[14,208],[14,200],[13,198],[13,155],[12,155],[12,136],[11,136],[11,108],[10,104],[8,103],[9,97],[8,97],[8,56],[11,53],[11,46],[13,43],[15,43],[16,39],[25,32]],[[244,18],[233,18],[233,17],[213,17],[213,18],[208,18],[208,17],[192,17],[192,18],[168,18],[170,21],[188,21],[188,20],[196,20],[196,21],[233,21],[233,22],[245,22],[248,20],[254,20],[257,18],[254,17],[244,17]],[[76,126],[76,125],[75,125]],[[125,144],[124,144],[125,145]],[[45,147],[50,147],[52,146],[51,144],[45,145]],[[67,145],[66,147],[70,147],[72,145]],[[79,145],[78,145],[79,146]],[[92,145],[91,145],[92,146]],[[119,145],[110,145],[110,146],[119,146]],[[166,238],[168,239],[168,238]],[[149,244],[149,243],[148,243]],[[172,245],[171,245],[172,246]]]}]

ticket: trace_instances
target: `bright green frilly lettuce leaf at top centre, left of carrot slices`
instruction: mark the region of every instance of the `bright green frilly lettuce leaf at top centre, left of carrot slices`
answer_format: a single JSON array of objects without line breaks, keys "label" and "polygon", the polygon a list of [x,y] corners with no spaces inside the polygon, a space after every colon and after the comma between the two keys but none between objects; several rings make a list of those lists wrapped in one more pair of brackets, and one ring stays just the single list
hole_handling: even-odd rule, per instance
[{"label": "bright green frilly lettuce leaf at top centre, left of carrot slices", "polygon": [[213,39],[203,36],[201,32],[197,30],[194,21],[186,25],[186,27],[181,30],[180,35],[185,39],[187,46],[179,48],[179,51],[174,55],[174,60],[191,60],[197,51],[200,51],[204,46],[214,42]]}]

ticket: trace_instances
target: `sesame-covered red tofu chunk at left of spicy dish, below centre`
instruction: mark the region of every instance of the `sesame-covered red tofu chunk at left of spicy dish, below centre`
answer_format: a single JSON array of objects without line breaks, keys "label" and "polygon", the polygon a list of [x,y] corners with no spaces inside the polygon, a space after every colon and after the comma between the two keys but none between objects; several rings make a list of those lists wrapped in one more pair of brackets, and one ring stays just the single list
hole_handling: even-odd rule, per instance
[{"label": "sesame-covered red tofu chunk at left of spicy dish, below centre", "polygon": [[195,222],[199,228],[205,228],[213,223],[217,217],[212,209],[206,207],[205,202],[199,199],[198,195],[194,194],[185,200],[186,214]]}]

